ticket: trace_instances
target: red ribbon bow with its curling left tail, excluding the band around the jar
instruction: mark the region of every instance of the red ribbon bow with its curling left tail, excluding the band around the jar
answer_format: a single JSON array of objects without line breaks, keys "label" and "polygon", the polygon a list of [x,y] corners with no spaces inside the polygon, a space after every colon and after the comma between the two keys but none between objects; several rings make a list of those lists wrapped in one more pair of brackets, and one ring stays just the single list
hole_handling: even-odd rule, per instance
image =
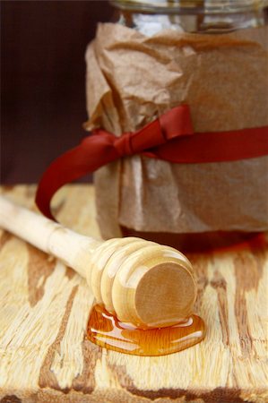
[{"label": "red ribbon bow with its curling left tail, excluding the band around the jar", "polygon": [[135,133],[117,137],[102,129],[95,129],[81,144],[55,159],[39,182],[36,203],[49,219],[50,201],[56,191],[68,182],[73,182],[94,172],[109,162],[122,157],[150,151],[178,136],[193,134],[190,111],[187,105],[174,107]]}]

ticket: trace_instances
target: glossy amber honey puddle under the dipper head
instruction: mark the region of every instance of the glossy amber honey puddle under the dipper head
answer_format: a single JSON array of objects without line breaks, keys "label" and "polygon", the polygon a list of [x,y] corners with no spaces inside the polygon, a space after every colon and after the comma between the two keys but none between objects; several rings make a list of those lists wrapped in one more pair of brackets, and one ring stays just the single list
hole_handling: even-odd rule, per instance
[{"label": "glossy amber honey puddle under the dipper head", "polygon": [[134,356],[166,356],[200,343],[205,336],[203,319],[192,314],[184,322],[161,329],[142,330],[119,322],[102,305],[93,306],[88,339],[100,347]]}]

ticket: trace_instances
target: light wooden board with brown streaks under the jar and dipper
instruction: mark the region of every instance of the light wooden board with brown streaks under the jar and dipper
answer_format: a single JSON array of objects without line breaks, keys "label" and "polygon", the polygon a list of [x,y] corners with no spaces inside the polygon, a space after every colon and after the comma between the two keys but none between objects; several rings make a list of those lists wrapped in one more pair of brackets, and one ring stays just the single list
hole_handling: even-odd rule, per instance
[{"label": "light wooden board with brown streaks under the jar and dipper", "polygon": [[[3,188],[34,209],[35,186]],[[58,193],[57,218],[99,236],[94,188]],[[1,232],[1,402],[265,402],[268,244],[192,254],[204,341],[170,356],[127,356],[86,339],[93,297],[61,262]]]}]

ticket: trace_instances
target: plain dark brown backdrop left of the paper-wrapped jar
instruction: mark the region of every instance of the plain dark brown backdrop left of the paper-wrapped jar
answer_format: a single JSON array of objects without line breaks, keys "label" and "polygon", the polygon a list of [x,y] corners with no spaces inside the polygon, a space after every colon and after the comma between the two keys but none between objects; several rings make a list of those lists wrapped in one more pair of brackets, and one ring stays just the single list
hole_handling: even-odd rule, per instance
[{"label": "plain dark brown backdrop left of the paper-wrapped jar", "polygon": [[36,183],[87,133],[85,62],[108,1],[1,1],[1,183]]}]

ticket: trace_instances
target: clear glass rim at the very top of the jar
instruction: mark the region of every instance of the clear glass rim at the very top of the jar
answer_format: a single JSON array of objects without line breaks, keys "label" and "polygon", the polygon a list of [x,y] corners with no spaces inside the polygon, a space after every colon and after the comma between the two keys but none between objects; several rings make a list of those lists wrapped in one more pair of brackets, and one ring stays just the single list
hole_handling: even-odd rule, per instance
[{"label": "clear glass rim at the very top of the jar", "polygon": [[148,13],[245,13],[268,6],[268,0],[110,0],[121,10]]}]

